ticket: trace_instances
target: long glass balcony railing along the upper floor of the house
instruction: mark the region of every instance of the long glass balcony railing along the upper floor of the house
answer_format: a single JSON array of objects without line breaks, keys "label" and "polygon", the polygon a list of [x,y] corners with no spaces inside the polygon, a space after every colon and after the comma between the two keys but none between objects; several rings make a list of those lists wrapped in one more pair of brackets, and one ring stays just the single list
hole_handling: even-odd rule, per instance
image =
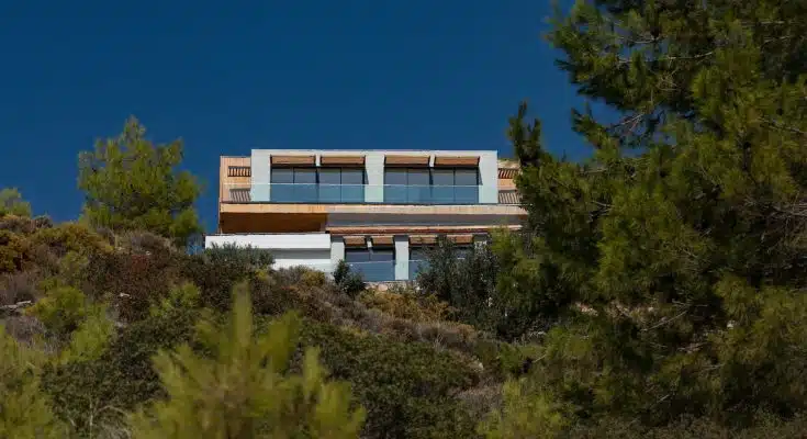
[{"label": "long glass balcony railing along the upper floor of the house", "polygon": [[231,203],[479,204],[478,185],[404,184],[225,184]]}]

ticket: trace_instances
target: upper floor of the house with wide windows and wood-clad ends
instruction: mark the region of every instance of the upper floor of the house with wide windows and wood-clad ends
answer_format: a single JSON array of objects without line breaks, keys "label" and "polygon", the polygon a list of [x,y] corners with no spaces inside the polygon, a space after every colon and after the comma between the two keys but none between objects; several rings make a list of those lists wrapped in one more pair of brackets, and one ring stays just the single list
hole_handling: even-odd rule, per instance
[{"label": "upper floor of the house with wide windows and wood-clad ends", "polygon": [[518,204],[495,150],[253,149],[222,157],[222,204]]}]

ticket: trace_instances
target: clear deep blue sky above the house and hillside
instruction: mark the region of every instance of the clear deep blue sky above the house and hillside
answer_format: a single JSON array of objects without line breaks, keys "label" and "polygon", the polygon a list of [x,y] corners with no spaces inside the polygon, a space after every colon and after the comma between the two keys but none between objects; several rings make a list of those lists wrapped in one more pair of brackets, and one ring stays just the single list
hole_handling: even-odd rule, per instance
[{"label": "clear deep blue sky above the house and hillside", "polygon": [[215,228],[220,155],[498,149],[527,99],[549,149],[587,155],[541,40],[549,0],[0,0],[0,188],[77,217],[77,157],[134,114],[182,137]]}]

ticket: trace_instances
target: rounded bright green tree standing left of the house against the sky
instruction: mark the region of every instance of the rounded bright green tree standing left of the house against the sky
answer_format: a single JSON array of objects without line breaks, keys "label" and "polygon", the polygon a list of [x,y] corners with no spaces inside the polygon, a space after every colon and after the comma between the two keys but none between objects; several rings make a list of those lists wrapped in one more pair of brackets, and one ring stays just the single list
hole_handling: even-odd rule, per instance
[{"label": "rounded bright green tree standing left of the house against the sky", "polygon": [[132,117],[117,138],[99,140],[79,156],[79,189],[86,193],[82,217],[115,232],[144,229],[184,245],[201,232],[193,209],[200,185],[177,168],[182,143],[154,145]]}]

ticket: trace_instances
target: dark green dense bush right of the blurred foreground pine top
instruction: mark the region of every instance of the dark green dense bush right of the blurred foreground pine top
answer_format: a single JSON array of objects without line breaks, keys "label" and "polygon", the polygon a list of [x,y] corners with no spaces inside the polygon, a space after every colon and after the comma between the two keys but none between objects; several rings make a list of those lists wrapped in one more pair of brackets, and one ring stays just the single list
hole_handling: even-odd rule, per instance
[{"label": "dark green dense bush right of the blurred foreground pine top", "polygon": [[471,368],[426,344],[394,342],[306,322],[303,344],[321,349],[335,379],[351,383],[367,408],[363,437],[468,438],[469,419],[456,393],[477,383]]}]

